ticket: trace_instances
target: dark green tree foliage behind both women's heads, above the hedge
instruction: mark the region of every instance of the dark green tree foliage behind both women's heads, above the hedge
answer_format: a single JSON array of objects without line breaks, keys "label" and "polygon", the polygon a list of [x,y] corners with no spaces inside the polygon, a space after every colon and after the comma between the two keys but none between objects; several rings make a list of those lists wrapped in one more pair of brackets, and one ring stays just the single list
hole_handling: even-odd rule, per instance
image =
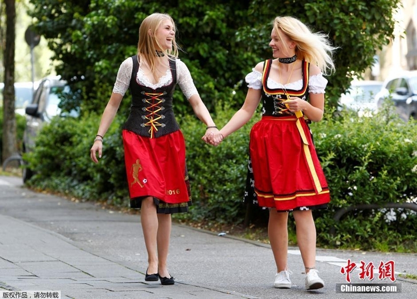
[{"label": "dark green tree foliage behind both women's heads, above the hedge", "polygon": [[[241,105],[245,74],[271,57],[271,21],[278,14],[296,16],[314,31],[328,33],[339,47],[334,57],[337,72],[327,89],[335,104],[350,76],[362,74],[375,52],[389,43],[392,16],[400,1],[286,0],[279,9],[267,0],[30,2],[36,28],[60,62],[57,73],[83,90],[84,110],[101,111],[120,63],[135,54],[138,27],[150,13],[167,12],[176,21],[177,40],[184,51],[180,58],[209,108],[217,100]],[[175,100],[177,112],[189,111],[180,91]]]}]

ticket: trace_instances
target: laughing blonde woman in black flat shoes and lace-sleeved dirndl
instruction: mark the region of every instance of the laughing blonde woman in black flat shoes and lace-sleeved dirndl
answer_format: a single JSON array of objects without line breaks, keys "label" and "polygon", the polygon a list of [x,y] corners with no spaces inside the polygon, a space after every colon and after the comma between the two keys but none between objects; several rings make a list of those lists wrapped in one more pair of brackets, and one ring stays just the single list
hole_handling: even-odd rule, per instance
[{"label": "laughing blonde woman in black flat shoes and lace-sleeved dirndl", "polygon": [[130,207],[141,209],[148,253],[145,280],[160,280],[162,285],[175,283],[167,269],[171,214],[187,212],[192,202],[184,137],[172,108],[177,84],[207,126],[206,134],[218,133],[190,72],[178,59],[174,21],[167,14],[154,13],[140,25],[137,54],[120,65],[90,150],[91,159],[98,163],[103,136],[130,88],[130,114],[122,131]]}]

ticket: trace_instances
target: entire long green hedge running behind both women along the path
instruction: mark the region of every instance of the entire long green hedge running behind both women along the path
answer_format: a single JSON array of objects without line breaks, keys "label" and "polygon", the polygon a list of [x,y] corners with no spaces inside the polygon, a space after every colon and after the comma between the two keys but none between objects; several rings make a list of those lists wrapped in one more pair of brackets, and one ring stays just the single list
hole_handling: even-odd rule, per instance
[{"label": "entire long green hedge running behind both women along the path", "polygon": [[[353,113],[330,117],[333,113],[328,112],[323,121],[311,125],[331,190],[329,208],[314,211],[319,246],[417,251],[414,211],[354,210],[339,222],[334,220],[339,209],[351,205],[416,200],[417,126],[414,121],[401,122],[391,111],[392,107],[386,107],[372,118],[358,118]],[[216,124],[224,125],[234,112],[229,105],[219,103]],[[205,125],[194,116],[179,118],[194,205],[190,213],[176,217],[193,222],[243,223],[249,131],[259,118],[257,112],[249,124],[218,147],[201,140]],[[116,119],[106,134],[104,156],[96,165],[90,160],[89,149],[99,121],[99,115],[88,115],[80,120],[56,119],[45,126],[36,150],[25,157],[37,172],[29,184],[127,207],[120,129],[123,120]],[[255,223],[265,215],[255,213],[251,221]]]}]

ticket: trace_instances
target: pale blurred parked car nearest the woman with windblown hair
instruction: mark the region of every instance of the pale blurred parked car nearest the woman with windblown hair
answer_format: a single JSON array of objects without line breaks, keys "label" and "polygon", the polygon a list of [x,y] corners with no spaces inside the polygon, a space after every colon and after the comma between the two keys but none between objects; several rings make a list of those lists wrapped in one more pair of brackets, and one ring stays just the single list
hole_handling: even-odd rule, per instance
[{"label": "pale blurred parked car nearest the woman with windblown hair", "polygon": [[381,91],[382,85],[382,81],[353,80],[340,96],[340,109],[357,111],[360,117],[372,116],[377,110],[375,95]]}]

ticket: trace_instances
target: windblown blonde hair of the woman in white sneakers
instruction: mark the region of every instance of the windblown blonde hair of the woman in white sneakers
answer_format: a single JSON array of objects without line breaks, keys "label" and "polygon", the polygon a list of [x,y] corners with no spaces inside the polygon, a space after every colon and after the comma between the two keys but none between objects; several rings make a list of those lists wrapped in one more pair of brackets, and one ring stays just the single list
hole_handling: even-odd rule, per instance
[{"label": "windblown blonde hair of the woman in white sneakers", "polygon": [[[276,17],[273,28],[278,36],[280,35],[278,29],[281,29],[296,43],[297,58],[316,64],[325,75],[335,71],[332,56],[337,48],[331,45],[327,34],[313,33],[307,25],[294,17]],[[281,36],[280,39],[282,40]]]}]

